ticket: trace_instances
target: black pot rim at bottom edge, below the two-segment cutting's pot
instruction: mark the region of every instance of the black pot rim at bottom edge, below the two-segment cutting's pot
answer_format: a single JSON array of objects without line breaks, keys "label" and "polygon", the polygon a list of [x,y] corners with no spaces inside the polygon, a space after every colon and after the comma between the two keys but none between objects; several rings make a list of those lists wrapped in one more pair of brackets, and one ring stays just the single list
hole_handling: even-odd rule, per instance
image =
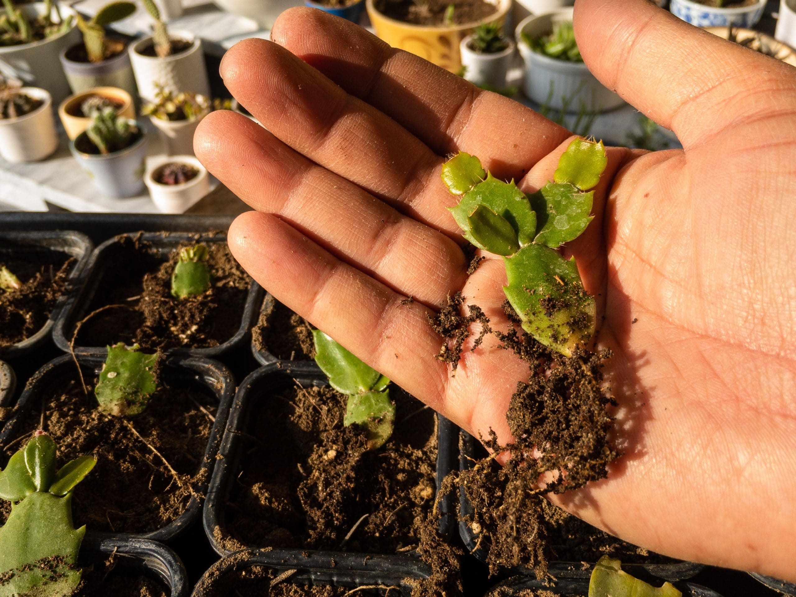
[{"label": "black pot rim at bottom edge, below the two-segment cutting's pot", "polygon": [[[328,556],[319,552],[300,552],[299,550],[264,551],[243,549],[219,560],[205,572],[191,597],[216,597],[213,595],[213,580],[221,579],[225,573],[240,572],[252,566],[273,568],[275,571],[295,570],[286,582],[303,582],[314,585],[333,585],[338,587],[401,587],[400,595],[409,597],[412,590],[406,584],[410,579],[427,579],[425,571],[420,571],[400,556],[377,556],[365,554],[341,554],[336,558],[334,568],[329,566]],[[208,589],[201,590],[202,585]],[[389,595],[396,595],[390,591]],[[384,595],[384,590],[373,592],[357,591],[357,595]]]}]

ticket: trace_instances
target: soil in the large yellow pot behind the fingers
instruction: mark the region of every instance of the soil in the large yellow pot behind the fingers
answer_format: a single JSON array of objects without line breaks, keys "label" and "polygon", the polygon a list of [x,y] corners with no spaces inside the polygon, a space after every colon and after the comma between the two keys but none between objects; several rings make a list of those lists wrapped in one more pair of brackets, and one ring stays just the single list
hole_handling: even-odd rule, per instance
[{"label": "soil in the large yellow pot behind the fingers", "polygon": [[[446,22],[448,6],[454,6],[451,23]],[[384,16],[413,25],[463,25],[482,21],[497,11],[485,0],[376,0],[376,9]]]}]

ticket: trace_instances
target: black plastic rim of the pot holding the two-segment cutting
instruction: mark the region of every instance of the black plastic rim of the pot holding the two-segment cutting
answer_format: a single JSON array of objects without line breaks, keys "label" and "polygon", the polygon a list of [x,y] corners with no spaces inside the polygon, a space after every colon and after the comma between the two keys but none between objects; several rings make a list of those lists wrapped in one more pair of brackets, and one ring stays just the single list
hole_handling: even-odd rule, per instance
[{"label": "black plastic rim of the pot holding the two-segment cutting", "polygon": [[[217,464],[216,470],[213,472],[213,479],[210,482],[210,489],[208,499],[205,501],[204,512],[204,525],[205,533],[207,534],[210,544],[221,556],[227,556],[233,551],[240,548],[274,548],[271,556],[275,558],[271,560],[276,562],[281,558],[298,558],[301,556],[310,555],[318,568],[330,568],[330,573],[339,572],[345,569],[346,566],[354,566],[353,563],[361,562],[365,558],[369,566],[392,566],[400,565],[406,571],[412,571],[412,576],[427,576],[430,573],[430,567],[424,564],[415,555],[412,555],[412,550],[400,553],[362,553],[357,548],[350,548],[349,552],[345,552],[345,541],[343,547],[336,550],[308,550],[301,544],[300,536],[303,531],[302,522],[304,514],[296,511],[295,514],[287,514],[287,517],[293,516],[294,518],[286,518],[279,514],[276,518],[271,516],[271,521],[279,521],[279,525],[286,525],[283,529],[291,527],[297,529],[297,532],[292,538],[285,540],[284,533],[289,533],[287,530],[275,530],[273,533],[269,531],[270,537],[275,537],[276,544],[268,544],[269,539],[263,537],[252,543],[257,544],[244,544],[243,541],[236,538],[235,528],[240,529],[240,526],[235,526],[235,521],[228,518],[228,513],[231,512],[230,506],[232,501],[242,499],[238,503],[248,504],[248,497],[240,494],[239,497],[233,495],[233,491],[240,487],[240,483],[244,481],[239,477],[240,473],[244,470],[244,463],[242,458],[244,455],[258,445],[259,439],[256,439],[255,425],[258,416],[271,416],[271,410],[263,410],[270,408],[279,408],[284,404],[284,400],[279,396],[279,392],[291,388],[311,388],[313,386],[322,387],[326,386],[328,381],[326,376],[320,372],[319,369],[312,365],[291,366],[283,367],[280,363],[267,365],[251,373],[246,379],[241,382],[240,388],[236,394],[230,417],[228,419],[227,431],[224,433],[221,449],[219,452],[220,460]],[[396,391],[398,388],[396,388]],[[400,409],[399,409],[400,412]],[[263,419],[265,420],[265,419]],[[455,462],[455,435],[451,432],[455,427],[441,416],[437,416],[437,439],[438,439],[438,455],[436,461],[436,474],[435,484],[439,487],[444,476],[451,470]],[[396,418],[397,425],[400,425],[400,414]],[[410,423],[406,423],[410,424]],[[426,428],[427,423],[423,419],[417,420],[414,423],[418,428]],[[274,441],[280,443],[282,438],[287,438],[287,435],[279,435],[279,425],[274,428]],[[404,426],[404,429],[408,427]],[[421,431],[425,433],[425,431]],[[286,441],[289,441],[286,439]],[[287,445],[287,444],[286,444]],[[417,449],[417,447],[416,447]],[[330,458],[336,458],[336,452],[330,451]],[[253,458],[253,457],[252,457]],[[250,459],[249,462],[254,462]],[[298,463],[300,470],[300,463]],[[270,477],[269,477],[270,478]],[[245,478],[243,478],[245,480]],[[271,482],[266,481],[269,486],[268,492],[271,495],[286,496],[284,499],[290,501],[291,497],[287,497],[295,492],[295,488],[290,487],[291,482],[279,481],[279,486],[269,485]],[[277,483],[274,481],[274,483]],[[247,487],[247,486],[244,486]],[[239,492],[240,493],[240,492]],[[282,498],[279,498],[282,499]],[[433,499],[433,493],[428,496],[428,499]],[[265,502],[261,502],[265,503]],[[269,508],[270,506],[265,506]],[[248,508],[248,506],[247,506]],[[441,513],[439,521],[438,533],[443,537],[449,537],[452,530],[451,515],[454,513],[454,505],[451,496],[443,496],[439,498],[438,509]],[[236,516],[241,514],[236,512]],[[267,520],[267,513],[263,513],[260,506],[256,506],[256,510],[250,510],[247,516],[251,520]],[[247,525],[248,519],[242,519],[243,524]],[[292,522],[291,522],[292,520]],[[364,519],[362,519],[364,520]],[[283,523],[284,521],[284,523]],[[240,524],[240,523],[238,523]],[[269,523],[265,523],[268,526]],[[259,533],[259,531],[257,531]],[[292,533],[292,532],[290,532]],[[240,537],[240,536],[237,536]],[[253,536],[252,536],[253,537]],[[258,536],[259,537],[259,536]],[[352,542],[356,542],[359,538],[356,535],[349,533],[349,538]],[[279,543],[279,541],[283,541]],[[283,548],[285,545],[291,544],[291,548]],[[349,564],[351,563],[351,564]],[[358,564],[357,564],[358,565]]]}]

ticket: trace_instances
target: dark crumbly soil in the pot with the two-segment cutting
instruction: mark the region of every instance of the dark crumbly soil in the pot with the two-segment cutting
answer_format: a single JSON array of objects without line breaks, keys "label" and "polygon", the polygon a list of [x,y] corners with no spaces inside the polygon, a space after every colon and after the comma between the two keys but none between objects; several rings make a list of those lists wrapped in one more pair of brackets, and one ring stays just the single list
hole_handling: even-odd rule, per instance
[{"label": "dark crumbly soil in the pot with the two-segment cutting", "polygon": [[[228,531],[242,546],[396,553],[416,548],[435,501],[436,418],[395,388],[396,428],[367,451],[365,433],[343,427],[346,397],[330,388],[263,396],[248,429],[228,501]],[[346,538],[347,537],[347,538]]]}]

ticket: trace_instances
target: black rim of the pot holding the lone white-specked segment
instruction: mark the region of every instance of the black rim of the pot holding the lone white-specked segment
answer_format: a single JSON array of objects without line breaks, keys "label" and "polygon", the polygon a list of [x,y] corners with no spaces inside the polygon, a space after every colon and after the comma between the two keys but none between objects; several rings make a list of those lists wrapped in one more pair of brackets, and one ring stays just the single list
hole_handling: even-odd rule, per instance
[{"label": "black rim of the pot holding the lone white-specked segment", "polygon": [[[80,362],[84,377],[93,379],[99,374],[104,358],[78,356],[77,360]],[[28,381],[24,391],[19,396],[14,406],[14,415],[0,431],[0,446],[4,446],[16,438],[18,429],[27,413],[31,409],[37,408],[40,398],[45,392],[48,392],[50,388],[57,386],[57,384],[63,383],[64,379],[72,377],[75,366],[72,355],[64,354],[39,369]],[[166,361],[163,376],[166,383],[169,383],[170,380],[179,380],[182,383],[198,384],[211,395],[216,396],[218,401],[216,421],[213,423],[213,429],[210,432],[207,447],[205,448],[205,458],[199,470],[197,470],[197,473],[202,470],[206,471],[205,474],[197,475],[197,478],[205,480],[197,481],[193,484],[191,488],[193,497],[191,497],[188,507],[184,513],[174,521],[171,521],[170,524],[150,533],[114,533],[113,537],[150,539],[167,543],[178,537],[181,532],[185,531],[189,525],[192,525],[201,516],[202,497],[207,494],[208,489],[206,479],[210,477],[213,467],[216,466],[218,448],[224,435],[232,399],[235,396],[235,380],[232,377],[232,373],[224,365],[204,357],[171,357]],[[5,465],[5,462],[3,465]],[[105,535],[107,533],[96,534]]]}]

